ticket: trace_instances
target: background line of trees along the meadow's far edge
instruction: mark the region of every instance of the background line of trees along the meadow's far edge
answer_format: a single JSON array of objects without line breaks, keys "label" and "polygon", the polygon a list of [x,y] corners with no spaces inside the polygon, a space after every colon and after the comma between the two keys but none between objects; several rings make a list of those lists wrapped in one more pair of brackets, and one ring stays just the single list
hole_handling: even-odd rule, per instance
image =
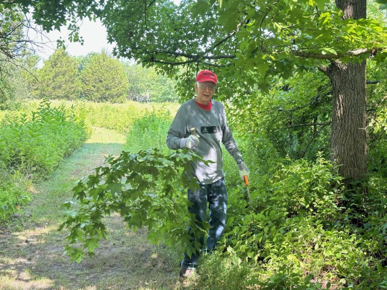
[{"label": "background line of trees along the meadow's far edge", "polygon": [[173,80],[105,51],[71,56],[58,48],[40,68],[37,55],[19,61],[23,68],[8,64],[0,82],[0,109],[15,109],[25,98],[112,103],[144,97],[151,102],[177,100]]}]

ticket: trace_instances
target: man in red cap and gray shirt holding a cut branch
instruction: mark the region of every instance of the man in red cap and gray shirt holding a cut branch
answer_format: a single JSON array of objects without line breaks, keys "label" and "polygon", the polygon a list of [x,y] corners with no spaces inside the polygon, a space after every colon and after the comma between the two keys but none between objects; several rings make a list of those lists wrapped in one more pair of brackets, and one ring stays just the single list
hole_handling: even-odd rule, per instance
[{"label": "man in red cap and gray shirt holding a cut branch", "polygon": [[[227,190],[224,182],[221,143],[236,161],[240,177],[249,174],[242,155],[227,125],[226,114],[221,103],[211,100],[218,83],[217,76],[210,70],[202,70],[195,80],[196,98],[180,106],[168,130],[167,146],[177,150],[188,148],[205,160],[192,164],[192,174],[198,179],[200,189],[188,189],[188,200],[192,203],[188,211],[195,214],[198,225],[207,221],[207,202],[210,209],[210,230],[207,237],[207,251],[215,248],[224,233],[227,211]],[[190,129],[195,128],[197,135]],[[193,242],[204,246],[204,235],[196,237],[188,229]],[[187,277],[195,271],[200,252],[191,257],[184,253],[180,276]]]}]

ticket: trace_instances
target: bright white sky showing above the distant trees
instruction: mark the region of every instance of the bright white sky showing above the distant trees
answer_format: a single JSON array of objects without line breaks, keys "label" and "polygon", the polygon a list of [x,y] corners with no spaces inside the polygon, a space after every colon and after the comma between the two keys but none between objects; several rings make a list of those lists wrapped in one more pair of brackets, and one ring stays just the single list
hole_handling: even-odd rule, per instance
[{"label": "bright white sky showing above the distant trees", "polygon": [[44,42],[42,47],[35,47],[37,54],[42,60],[48,59],[48,57],[56,49],[56,40],[60,37],[65,40],[67,52],[73,56],[86,55],[89,52],[101,52],[105,49],[112,52],[113,45],[109,44],[106,40],[106,29],[101,24],[100,20],[90,21],[84,19],[80,24],[80,35],[84,39],[83,45],[79,42],[70,42],[68,40],[69,31],[66,27],[62,27],[60,31],[45,32],[44,36],[37,36],[33,32],[29,32],[30,37],[35,38],[38,42]]}]

